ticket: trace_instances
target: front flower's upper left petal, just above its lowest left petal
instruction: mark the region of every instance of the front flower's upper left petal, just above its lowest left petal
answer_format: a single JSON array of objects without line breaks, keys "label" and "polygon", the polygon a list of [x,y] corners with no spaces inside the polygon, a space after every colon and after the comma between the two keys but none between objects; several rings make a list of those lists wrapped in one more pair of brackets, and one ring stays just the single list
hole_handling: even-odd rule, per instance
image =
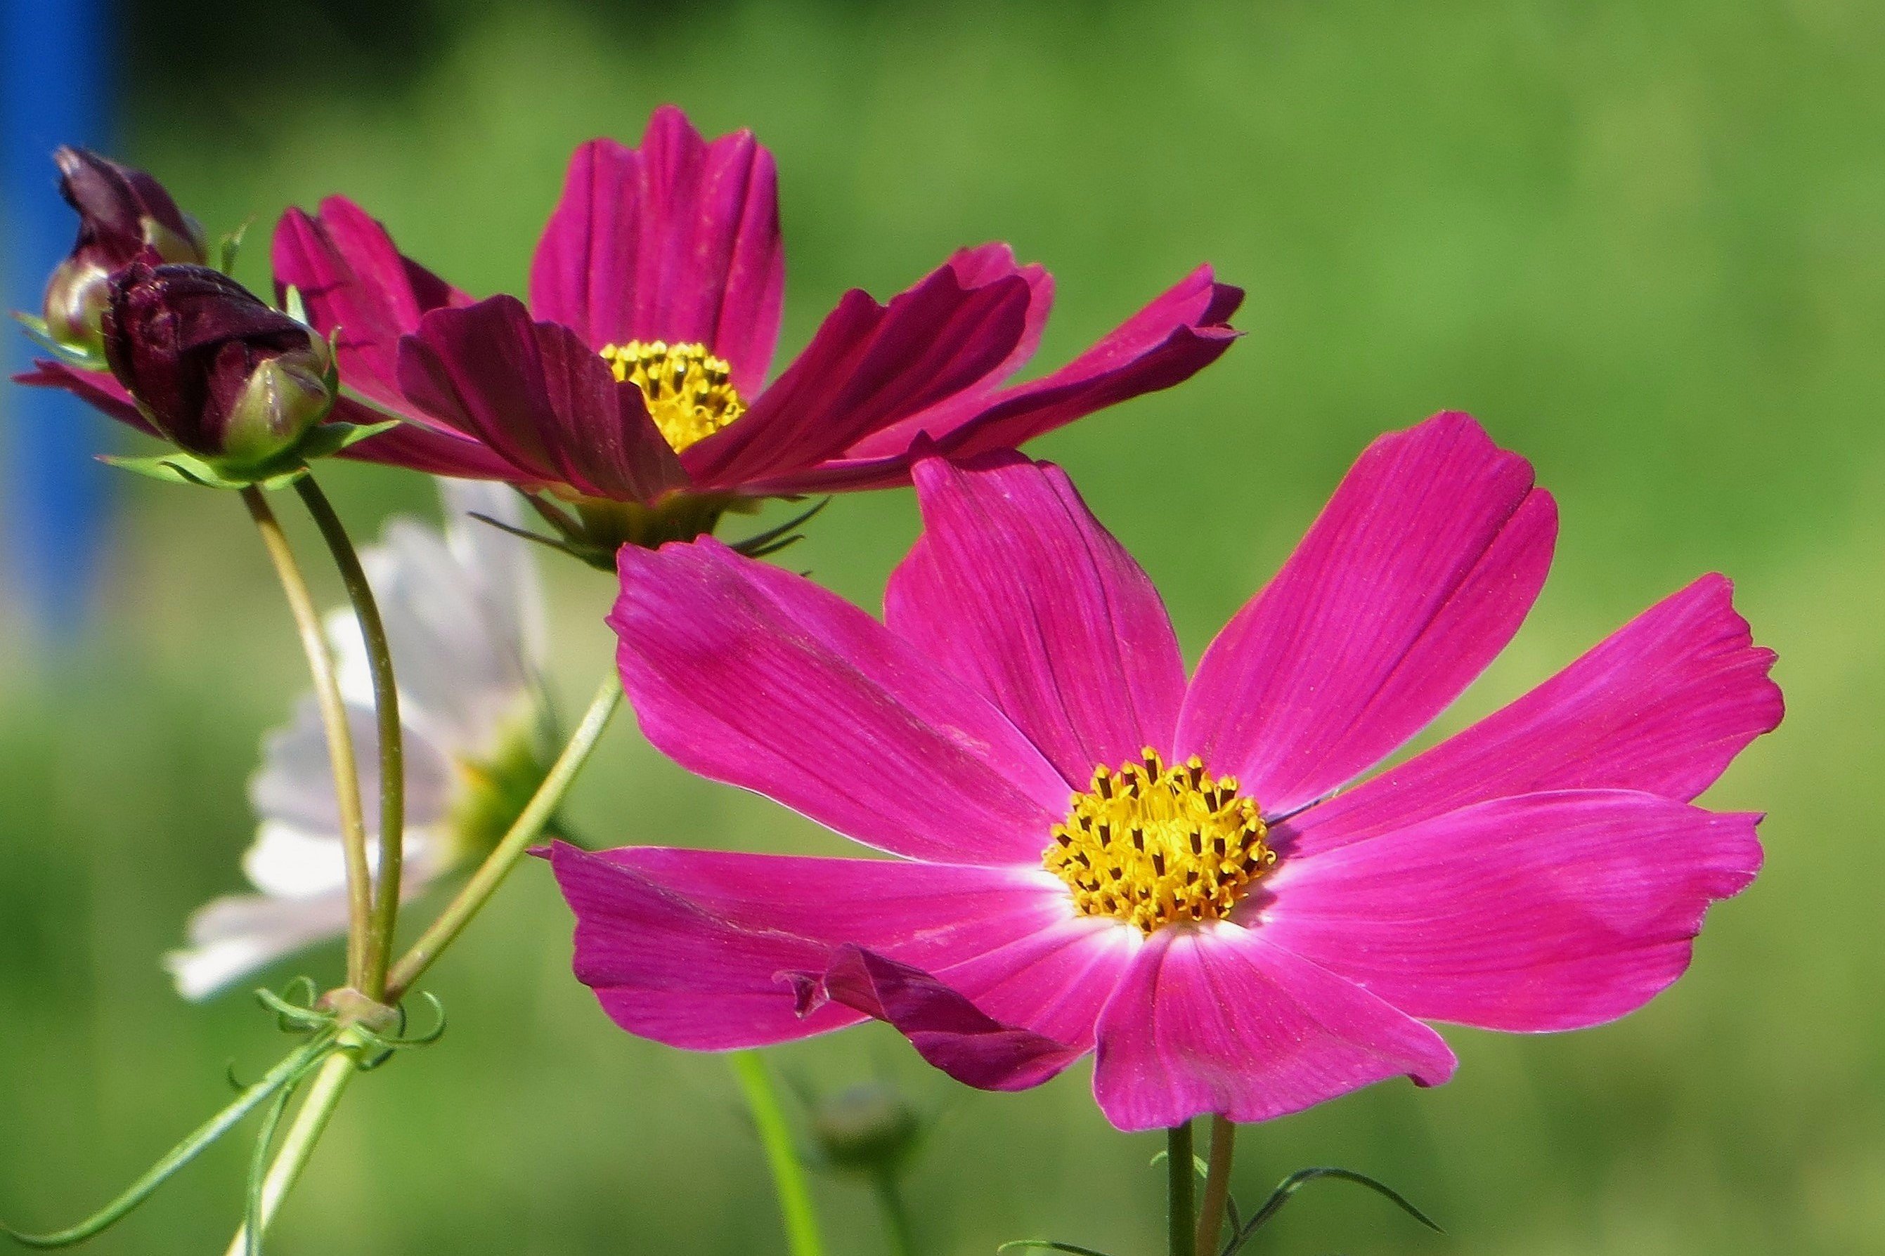
[{"label": "front flower's upper left petal, just above its lowest left petal", "polygon": [[680,766],[899,855],[1039,866],[1067,783],[922,650],[713,539],[618,563],[622,684]]}]

